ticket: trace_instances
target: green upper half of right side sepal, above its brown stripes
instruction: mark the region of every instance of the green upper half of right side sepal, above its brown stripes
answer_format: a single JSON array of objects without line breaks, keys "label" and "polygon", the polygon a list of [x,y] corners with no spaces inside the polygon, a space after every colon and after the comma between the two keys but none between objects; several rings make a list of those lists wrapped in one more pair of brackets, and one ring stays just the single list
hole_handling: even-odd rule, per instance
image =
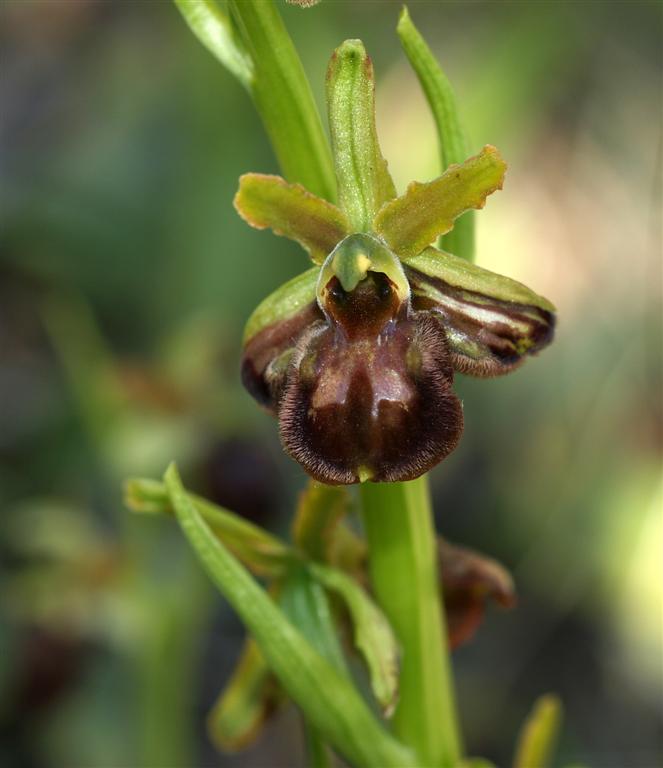
[{"label": "green upper half of right side sepal, above its brown stripes", "polygon": [[[555,312],[555,306],[543,296],[535,293],[526,285],[510,277],[498,275],[488,269],[472,264],[466,259],[429,247],[416,256],[404,259],[408,267],[422,272],[428,277],[442,280],[454,288],[480,294],[487,299],[531,305],[545,312]],[[423,284],[414,289],[430,290]],[[431,298],[434,296],[431,294]]]}]

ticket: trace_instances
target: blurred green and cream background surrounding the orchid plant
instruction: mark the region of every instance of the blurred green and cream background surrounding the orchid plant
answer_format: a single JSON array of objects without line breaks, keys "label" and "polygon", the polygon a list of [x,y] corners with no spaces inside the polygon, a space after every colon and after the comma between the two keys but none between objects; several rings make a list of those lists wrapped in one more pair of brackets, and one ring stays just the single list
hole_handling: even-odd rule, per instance
[{"label": "blurred green and cream background surrounding the orchid plant", "polygon": [[[663,760],[659,3],[415,2],[473,150],[510,164],[478,261],[550,297],[553,347],[458,378],[466,428],[438,525],[520,602],[454,656],[465,738],[507,765],[540,693],[556,765]],[[322,100],[361,37],[400,189],[438,173],[399,5],[282,8]],[[160,2],[0,5],[0,764],[303,764],[297,715],[218,755],[204,719],[242,629],[129,475],[185,479],[275,531],[304,478],[238,383],[243,323],[306,267],[250,230],[238,176],[275,172],[245,92]]]}]

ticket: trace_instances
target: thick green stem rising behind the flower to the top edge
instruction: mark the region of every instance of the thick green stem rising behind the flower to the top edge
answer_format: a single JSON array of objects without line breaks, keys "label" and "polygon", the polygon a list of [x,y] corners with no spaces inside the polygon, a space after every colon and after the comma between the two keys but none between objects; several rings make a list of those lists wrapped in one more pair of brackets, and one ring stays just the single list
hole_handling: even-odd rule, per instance
[{"label": "thick green stem rising behind the flower to the top edge", "polygon": [[336,181],[329,144],[276,4],[229,0],[228,5],[253,62],[251,93],[284,176],[333,202]]}]

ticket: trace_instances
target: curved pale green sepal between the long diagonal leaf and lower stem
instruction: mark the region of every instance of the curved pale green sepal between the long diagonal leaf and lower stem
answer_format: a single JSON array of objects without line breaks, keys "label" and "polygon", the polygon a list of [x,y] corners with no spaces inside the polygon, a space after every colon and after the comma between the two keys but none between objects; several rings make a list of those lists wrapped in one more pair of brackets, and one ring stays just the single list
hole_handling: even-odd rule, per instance
[{"label": "curved pale green sepal between the long diagonal leaf and lower stem", "polygon": [[355,645],[368,666],[371,687],[385,715],[398,700],[398,643],[389,622],[366,592],[342,571],[311,564],[311,573],[345,604],[354,626]]}]

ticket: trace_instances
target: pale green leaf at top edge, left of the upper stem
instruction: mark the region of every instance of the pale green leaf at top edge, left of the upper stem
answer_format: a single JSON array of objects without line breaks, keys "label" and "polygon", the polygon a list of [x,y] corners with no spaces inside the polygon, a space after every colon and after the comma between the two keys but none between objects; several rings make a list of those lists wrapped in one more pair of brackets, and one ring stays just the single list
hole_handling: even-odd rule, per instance
[{"label": "pale green leaf at top edge, left of the upper stem", "polygon": [[251,91],[254,67],[232,21],[215,0],[175,0],[191,31]]}]

